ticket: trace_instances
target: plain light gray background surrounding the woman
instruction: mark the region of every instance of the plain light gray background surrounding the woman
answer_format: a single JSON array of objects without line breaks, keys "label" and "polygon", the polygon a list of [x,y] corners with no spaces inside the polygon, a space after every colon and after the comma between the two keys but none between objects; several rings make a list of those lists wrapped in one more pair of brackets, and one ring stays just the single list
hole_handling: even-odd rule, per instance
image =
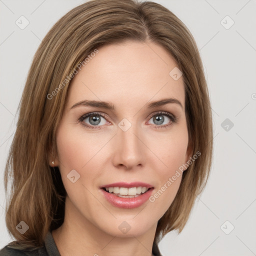
[{"label": "plain light gray background surrounding the woman", "polygon": [[[50,27],[82,2],[0,0],[0,248],[12,240],[4,222],[3,171],[32,56]],[[214,128],[209,182],[183,231],[168,233],[160,251],[165,256],[256,255],[256,1],[155,2],[177,15],[196,40]],[[24,29],[15,24],[21,15],[29,21]],[[226,15],[234,21],[228,29]]]}]

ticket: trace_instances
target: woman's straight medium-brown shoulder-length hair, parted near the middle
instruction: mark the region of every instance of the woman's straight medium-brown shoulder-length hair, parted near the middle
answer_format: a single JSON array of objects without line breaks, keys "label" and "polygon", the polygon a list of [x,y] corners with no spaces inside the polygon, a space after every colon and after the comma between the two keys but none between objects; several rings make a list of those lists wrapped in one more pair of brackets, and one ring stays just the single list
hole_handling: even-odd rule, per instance
[{"label": "woman's straight medium-brown shoulder-length hair, parted near the middle", "polygon": [[[95,48],[128,39],[162,46],[183,73],[188,144],[192,153],[201,155],[183,172],[173,202],[157,222],[154,242],[171,230],[183,229],[212,161],[211,108],[196,43],[182,21],[160,4],[90,0],[52,26],[28,72],[4,172],[5,193],[13,178],[5,215],[8,233],[17,239],[12,244],[39,247],[47,231],[59,227],[64,218],[66,191],[58,167],[48,164],[48,153],[56,155],[55,134],[70,81],[52,99],[47,95]],[[29,226],[24,234],[16,229],[20,221]]]}]

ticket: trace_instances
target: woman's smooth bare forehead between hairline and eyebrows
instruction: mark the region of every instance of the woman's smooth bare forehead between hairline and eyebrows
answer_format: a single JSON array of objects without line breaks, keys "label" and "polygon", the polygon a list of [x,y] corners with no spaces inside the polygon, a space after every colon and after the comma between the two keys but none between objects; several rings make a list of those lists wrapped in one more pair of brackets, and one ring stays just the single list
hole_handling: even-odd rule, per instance
[{"label": "woman's smooth bare forehead between hairline and eyebrows", "polygon": [[71,80],[69,105],[83,99],[134,104],[163,97],[177,98],[184,105],[182,76],[174,80],[169,75],[177,64],[162,46],[125,41],[97,49]]}]

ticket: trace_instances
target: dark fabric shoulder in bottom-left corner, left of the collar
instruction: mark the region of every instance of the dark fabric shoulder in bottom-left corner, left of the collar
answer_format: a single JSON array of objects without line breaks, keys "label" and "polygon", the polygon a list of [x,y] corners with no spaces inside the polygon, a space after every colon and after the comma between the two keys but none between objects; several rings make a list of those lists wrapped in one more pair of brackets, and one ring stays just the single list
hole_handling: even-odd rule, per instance
[{"label": "dark fabric shoulder in bottom-left corner, left of the collar", "polygon": [[0,249],[0,256],[48,256],[44,247],[35,249],[35,250],[27,250],[27,249],[19,249],[15,248],[13,245],[7,244],[3,248]]}]

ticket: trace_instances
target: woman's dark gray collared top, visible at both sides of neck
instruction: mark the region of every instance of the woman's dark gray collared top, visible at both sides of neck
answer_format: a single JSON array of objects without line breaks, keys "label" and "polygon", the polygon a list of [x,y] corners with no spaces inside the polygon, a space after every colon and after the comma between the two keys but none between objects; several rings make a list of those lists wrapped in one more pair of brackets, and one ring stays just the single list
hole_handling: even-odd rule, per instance
[{"label": "woman's dark gray collared top, visible at both sides of neck", "polygon": [[[152,254],[154,256],[162,256],[157,244],[153,243]],[[53,240],[51,233],[45,236],[44,244],[39,249],[29,251],[15,248],[15,245],[6,245],[0,250],[0,256],[60,256],[57,246]]]}]

